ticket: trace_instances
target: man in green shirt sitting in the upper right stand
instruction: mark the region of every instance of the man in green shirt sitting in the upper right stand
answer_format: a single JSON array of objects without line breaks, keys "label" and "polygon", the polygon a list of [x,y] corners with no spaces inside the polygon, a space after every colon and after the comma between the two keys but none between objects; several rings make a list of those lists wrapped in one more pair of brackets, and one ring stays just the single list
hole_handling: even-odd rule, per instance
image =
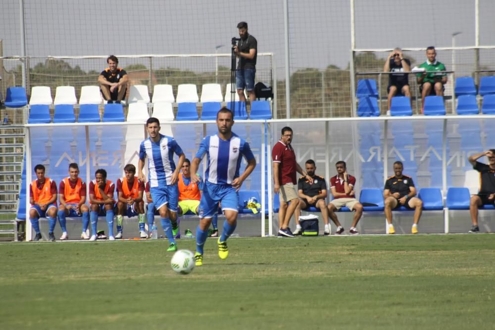
[{"label": "man in green shirt sitting in the upper right stand", "polygon": [[416,80],[420,86],[422,104],[425,104],[425,97],[428,95],[444,96],[444,85],[447,82],[446,73],[436,73],[434,71],[446,71],[445,65],[436,60],[437,52],[435,47],[426,48],[426,62],[419,67],[425,72],[418,73]]}]

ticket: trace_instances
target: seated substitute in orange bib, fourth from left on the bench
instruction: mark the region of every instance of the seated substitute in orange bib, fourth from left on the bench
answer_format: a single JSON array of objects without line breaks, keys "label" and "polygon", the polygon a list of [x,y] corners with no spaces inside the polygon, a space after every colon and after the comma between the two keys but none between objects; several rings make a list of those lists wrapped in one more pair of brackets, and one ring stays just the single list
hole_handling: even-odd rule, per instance
[{"label": "seated substitute in orange bib, fourth from left on the bench", "polygon": [[124,167],[125,177],[117,179],[117,235],[115,238],[122,238],[122,222],[124,215],[128,218],[138,216],[139,235],[141,238],[147,238],[145,230],[145,201],[143,193],[145,184],[135,177],[136,166],[127,164]]}]

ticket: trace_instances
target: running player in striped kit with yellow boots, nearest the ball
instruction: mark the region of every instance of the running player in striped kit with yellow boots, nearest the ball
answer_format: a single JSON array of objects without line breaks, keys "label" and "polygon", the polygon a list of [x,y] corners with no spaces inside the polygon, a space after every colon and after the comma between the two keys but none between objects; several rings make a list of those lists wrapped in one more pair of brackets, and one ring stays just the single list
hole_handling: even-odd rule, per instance
[{"label": "running player in striped kit with yellow boots, nearest the ball", "polygon": [[[239,205],[239,189],[256,167],[256,160],[246,140],[232,133],[234,118],[232,111],[226,107],[217,113],[218,134],[204,138],[199,144],[198,152],[191,164],[191,181],[199,182],[199,162],[208,155],[203,194],[199,203],[199,225],[196,231],[196,266],[203,264],[203,246],[208,236],[208,228],[213,214],[217,212],[218,202],[222,204],[225,222],[220,238],[218,238],[218,256],[226,259],[229,255],[227,238],[237,226]],[[247,160],[244,173],[239,175],[243,155]]]}]

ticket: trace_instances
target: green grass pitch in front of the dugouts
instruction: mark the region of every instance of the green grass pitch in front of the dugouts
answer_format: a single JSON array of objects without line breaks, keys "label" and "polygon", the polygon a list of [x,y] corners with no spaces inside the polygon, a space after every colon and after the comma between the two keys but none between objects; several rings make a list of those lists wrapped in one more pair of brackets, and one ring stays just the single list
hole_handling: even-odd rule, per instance
[{"label": "green grass pitch in front of the dugouts", "polygon": [[[493,329],[495,236],[0,244],[1,329]],[[178,240],[194,251],[194,239]]]}]

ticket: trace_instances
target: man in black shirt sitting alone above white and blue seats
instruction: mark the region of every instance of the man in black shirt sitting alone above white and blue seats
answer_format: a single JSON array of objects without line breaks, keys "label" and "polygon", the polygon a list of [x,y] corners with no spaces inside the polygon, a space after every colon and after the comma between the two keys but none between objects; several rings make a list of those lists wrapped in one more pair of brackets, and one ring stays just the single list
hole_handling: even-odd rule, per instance
[{"label": "man in black shirt sitting alone above white and blue seats", "polygon": [[124,69],[118,68],[117,56],[110,55],[106,59],[108,68],[101,71],[98,77],[101,94],[108,103],[120,103],[127,92],[129,77]]}]

